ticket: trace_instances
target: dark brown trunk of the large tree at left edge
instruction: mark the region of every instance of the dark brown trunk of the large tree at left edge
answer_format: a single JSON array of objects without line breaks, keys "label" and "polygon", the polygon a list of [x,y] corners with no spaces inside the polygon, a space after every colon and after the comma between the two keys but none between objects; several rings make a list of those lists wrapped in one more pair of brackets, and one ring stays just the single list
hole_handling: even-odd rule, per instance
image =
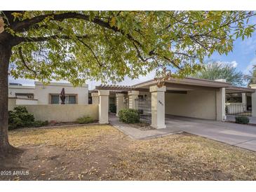
[{"label": "dark brown trunk of the large tree at left edge", "polygon": [[8,142],[8,66],[11,46],[0,42],[0,156],[13,147]]}]

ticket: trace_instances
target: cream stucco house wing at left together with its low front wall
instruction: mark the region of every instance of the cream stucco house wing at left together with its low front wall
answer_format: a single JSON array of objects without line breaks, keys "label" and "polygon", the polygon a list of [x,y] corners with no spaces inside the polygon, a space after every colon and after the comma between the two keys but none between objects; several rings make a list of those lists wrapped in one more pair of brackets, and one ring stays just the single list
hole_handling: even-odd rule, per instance
[{"label": "cream stucco house wing at left together with its low front wall", "polygon": [[[73,122],[90,116],[98,119],[98,105],[88,104],[88,85],[74,87],[70,83],[43,83],[34,86],[10,83],[8,86],[8,110],[26,107],[36,120]],[[65,104],[61,104],[60,92],[65,88]]]}]

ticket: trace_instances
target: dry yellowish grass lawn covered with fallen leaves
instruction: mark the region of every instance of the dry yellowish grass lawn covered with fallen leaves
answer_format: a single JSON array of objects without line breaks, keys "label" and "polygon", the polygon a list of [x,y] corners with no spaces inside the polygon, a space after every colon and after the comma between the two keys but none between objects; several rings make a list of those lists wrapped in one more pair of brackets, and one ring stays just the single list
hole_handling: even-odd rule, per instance
[{"label": "dry yellowish grass lawn covered with fallen leaves", "polygon": [[256,153],[195,135],[133,140],[110,125],[16,130],[1,180],[255,180]]}]

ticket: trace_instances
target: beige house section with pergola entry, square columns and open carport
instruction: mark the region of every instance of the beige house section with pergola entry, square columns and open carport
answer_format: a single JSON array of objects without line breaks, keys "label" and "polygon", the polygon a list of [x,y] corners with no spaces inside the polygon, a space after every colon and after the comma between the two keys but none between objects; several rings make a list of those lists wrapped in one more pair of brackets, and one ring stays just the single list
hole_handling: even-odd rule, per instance
[{"label": "beige house section with pergola entry, square columns and open carport", "polygon": [[[136,85],[99,85],[92,92],[94,104],[99,104],[99,121],[108,123],[109,95],[116,97],[116,114],[123,108],[138,109],[149,118],[154,128],[166,128],[165,116],[186,116],[215,121],[226,119],[226,93],[250,94],[251,114],[256,116],[256,85],[242,88],[223,79],[210,81],[198,78],[170,78],[163,86],[154,79]],[[229,105],[228,109],[233,109]],[[243,110],[247,110],[243,109]]]}]

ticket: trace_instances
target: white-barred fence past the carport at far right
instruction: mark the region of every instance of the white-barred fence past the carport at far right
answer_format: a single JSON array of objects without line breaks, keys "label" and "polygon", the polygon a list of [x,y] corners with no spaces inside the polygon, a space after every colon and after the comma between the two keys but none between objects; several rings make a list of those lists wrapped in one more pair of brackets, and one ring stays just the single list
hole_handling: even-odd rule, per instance
[{"label": "white-barred fence past the carport at far right", "polygon": [[252,110],[243,103],[227,103],[226,114],[234,116],[252,116]]}]

